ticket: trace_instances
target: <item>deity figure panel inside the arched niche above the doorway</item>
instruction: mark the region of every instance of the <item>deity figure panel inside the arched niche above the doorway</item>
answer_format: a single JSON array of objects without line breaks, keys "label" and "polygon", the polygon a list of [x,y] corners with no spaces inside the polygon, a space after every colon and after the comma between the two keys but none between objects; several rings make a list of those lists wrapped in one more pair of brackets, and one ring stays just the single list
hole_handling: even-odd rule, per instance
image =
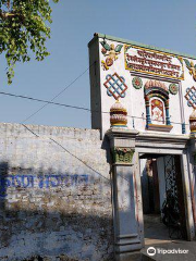
[{"label": "deity figure panel inside the arched niche above the doorway", "polygon": [[150,101],[152,124],[164,124],[164,103],[158,98]]}]

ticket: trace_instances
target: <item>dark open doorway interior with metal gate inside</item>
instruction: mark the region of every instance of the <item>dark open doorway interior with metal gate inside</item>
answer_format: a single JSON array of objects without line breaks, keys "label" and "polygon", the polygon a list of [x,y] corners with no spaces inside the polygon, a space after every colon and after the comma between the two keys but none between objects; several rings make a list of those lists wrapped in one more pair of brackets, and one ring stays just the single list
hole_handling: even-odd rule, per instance
[{"label": "dark open doorway interior with metal gate inside", "polygon": [[186,239],[180,156],[143,154],[140,159],[145,238]]}]

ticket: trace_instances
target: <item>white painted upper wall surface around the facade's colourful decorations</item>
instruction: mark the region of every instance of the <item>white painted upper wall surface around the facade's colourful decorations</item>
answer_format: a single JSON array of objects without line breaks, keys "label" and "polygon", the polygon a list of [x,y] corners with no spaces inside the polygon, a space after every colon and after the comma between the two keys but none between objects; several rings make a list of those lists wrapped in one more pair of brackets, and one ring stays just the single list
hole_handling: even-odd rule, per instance
[{"label": "white painted upper wall surface around the facade's colourful decorations", "polygon": [[[125,108],[127,109],[127,114],[128,114],[127,126],[128,126],[128,128],[131,128],[131,129],[135,128],[140,132],[149,132],[149,130],[145,129],[145,127],[146,127],[146,105],[145,105],[145,99],[144,99],[144,85],[146,84],[147,80],[149,80],[151,78],[151,79],[161,80],[162,83],[164,83],[164,85],[167,87],[169,87],[169,85],[171,83],[176,83],[176,84],[179,84],[180,88],[182,88],[182,95],[181,95],[181,92],[179,92],[177,95],[170,94],[170,115],[171,115],[170,120],[173,125],[173,128],[171,129],[170,134],[182,134],[181,123],[184,122],[184,116],[185,116],[185,123],[187,124],[186,125],[186,134],[188,134],[189,133],[188,119],[193,111],[193,108],[187,107],[187,101],[184,98],[184,96],[186,94],[186,88],[192,87],[196,84],[195,84],[193,76],[189,74],[188,69],[186,67],[185,62],[183,61],[184,79],[173,79],[173,78],[169,78],[169,77],[160,78],[152,74],[148,74],[148,75],[146,74],[147,76],[145,74],[140,74],[139,77],[143,80],[143,88],[135,89],[132,84],[132,79],[135,76],[135,73],[125,69],[124,44],[106,39],[108,45],[113,44],[117,47],[118,45],[121,44],[121,45],[123,45],[123,48],[121,50],[121,53],[118,55],[118,60],[113,62],[113,65],[110,66],[108,71],[105,71],[101,66],[101,61],[106,61],[106,57],[101,52],[102,46],[100,44],[100,41],[103,41],[103,39],[101,37],[99,37],[98,41],[99,41],[99,45],[97,45],[97,47],[99,47],[98,64],[99,64],[99,69],[100,69],[100,86],[99,86],[99,88],[100,88],[100,94],[101,94],[100,95],[101,111],[105,112],[105,113],[102,113],[101,126],[100,126],[100,128],[102,128],[102,136],[110,128],[109,112],[110,112],[111,105],[115,102],[115,99],[113,97],[109,97],[107,95],[107,88],[105,87],[103,84],[106,82],[106,76],[108,74],[112,75],[115,72],[119,74],[119,76],[123,76],[125,78],[125,84],[128,87],[126,90],[125,98],[120,98],[120,102],[122,102],[125,105]],[[94,47],[95,47],[95,45],[94,45]],[[89,45],[89,49],[90,49],[90,45]],[[137,47],[137,49],[138,49],[138,47]],[[155,50],[158,50],[158,49],[155,48]],[[134,51],[135,50],[133,49],[133,54],[134,54]],[[170,55],[170,53],[169,53],[169,55]],[[183,59],[184,59],[184,57],[183,57]],[[188,59],[188,58],[185,58],[185,59],[196,63],[196,61],[193,59]],[[95,77],[99,77],[99,75],[96,75]],[[158,77],[158,78],[156,78],[156,77]],[[97,97],[91,98],[91,99],[95,99],[95,100],[91,100],[93,103],[95,103],[95,102],[97,103]],[[181,104],[181,100],[182,100],[182,104]],[[134,125],[133,125],[133,116],[144,117],[144,119],[135,119]],[[151,133],[154,133],[154,132],[151,132]]]}]

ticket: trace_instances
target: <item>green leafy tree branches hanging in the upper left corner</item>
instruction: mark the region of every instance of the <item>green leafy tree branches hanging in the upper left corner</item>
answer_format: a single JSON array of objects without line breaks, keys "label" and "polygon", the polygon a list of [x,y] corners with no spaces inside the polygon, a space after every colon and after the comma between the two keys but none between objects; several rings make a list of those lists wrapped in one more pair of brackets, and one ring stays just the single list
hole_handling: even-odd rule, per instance
[{"label": "green leafy tree branches hanging in the upper left corner", "polygon": [[49,0],[0,0],[0,54],[5,54],[9,84],[16,62],[28,62],[30,52],[37,61],[49,55],[51,11]]}]

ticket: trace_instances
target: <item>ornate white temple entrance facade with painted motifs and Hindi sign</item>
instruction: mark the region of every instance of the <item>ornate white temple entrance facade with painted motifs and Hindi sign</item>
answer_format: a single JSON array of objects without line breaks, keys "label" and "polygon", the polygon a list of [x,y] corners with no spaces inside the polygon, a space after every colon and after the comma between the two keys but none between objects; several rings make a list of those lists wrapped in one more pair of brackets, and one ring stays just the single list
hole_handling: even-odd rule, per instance
[{"label": "ornate white temple entrance facade with painted motifs and Hindi sign", "polygon": [[101,34],[88,47],[91,126],[110,145],[115,259],[145,247],[149,216],[193,240],[196,58]]}]

